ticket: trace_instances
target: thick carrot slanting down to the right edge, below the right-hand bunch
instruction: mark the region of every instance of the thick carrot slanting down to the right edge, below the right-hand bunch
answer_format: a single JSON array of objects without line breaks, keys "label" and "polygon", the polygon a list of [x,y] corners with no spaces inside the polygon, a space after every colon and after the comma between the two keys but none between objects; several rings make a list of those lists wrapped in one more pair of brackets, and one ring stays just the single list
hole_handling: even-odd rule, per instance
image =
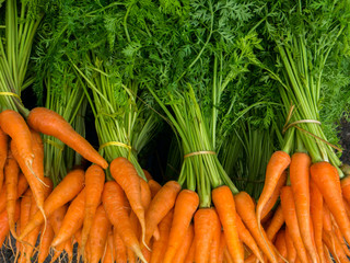
[{"label": "thick carrot slanting down to the right edge, below the right-hand bunch", "polygon": [[350,220],[342,203],[340,180],[329,162],[317,162],[311,167],[311,175],[334,215],[341,233],[350,243]]}]

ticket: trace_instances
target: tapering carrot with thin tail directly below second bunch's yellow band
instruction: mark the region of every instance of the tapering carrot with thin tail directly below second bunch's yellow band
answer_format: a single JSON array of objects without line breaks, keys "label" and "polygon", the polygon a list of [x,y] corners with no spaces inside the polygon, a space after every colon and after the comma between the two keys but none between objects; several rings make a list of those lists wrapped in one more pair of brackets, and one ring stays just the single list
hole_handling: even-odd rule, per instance
[{"label": "tapering carrot with thin tail directly below second bunch's yellow band", "polygon": [[109,167],[112,176],[121,186],[130,203],[131,209],[138,216],[142,229],[142,242],[144,243],[145,222],[144,207],[141,202],[140,178],[133,164],[124,157],[114,159]]}]

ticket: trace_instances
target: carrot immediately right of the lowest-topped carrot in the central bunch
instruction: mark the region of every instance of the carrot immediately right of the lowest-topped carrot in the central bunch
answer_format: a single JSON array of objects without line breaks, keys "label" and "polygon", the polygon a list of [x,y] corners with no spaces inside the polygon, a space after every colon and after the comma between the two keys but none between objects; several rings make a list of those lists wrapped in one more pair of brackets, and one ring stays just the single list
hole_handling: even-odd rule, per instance
[{"label": "carrot immediately right of the lowest-topped carrot in the central bunch", "polygon": [[244,250],[238,238],[233,194],[229,186],[223,185],[214,188],[211,195],[225,233],[228,250],[235,263],[243,263]]}]

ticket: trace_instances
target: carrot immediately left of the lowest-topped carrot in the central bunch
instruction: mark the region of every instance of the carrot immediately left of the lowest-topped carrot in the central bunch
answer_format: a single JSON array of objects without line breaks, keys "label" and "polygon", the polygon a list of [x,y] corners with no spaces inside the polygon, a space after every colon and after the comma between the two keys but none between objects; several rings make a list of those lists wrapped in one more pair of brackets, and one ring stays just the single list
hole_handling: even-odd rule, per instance
[{"label": "carrot immediately left of the lowest-topped carrot in the central bunch", "polygon": [[[164,255],[164,263],[171,263],[184,241],[186,230],[199,205],[199,196],[195,191],[183,190],[179,192],[174,208],[174,218],[168,237],[168,244]],[[213,225],[215,226],[215,225]]]}]

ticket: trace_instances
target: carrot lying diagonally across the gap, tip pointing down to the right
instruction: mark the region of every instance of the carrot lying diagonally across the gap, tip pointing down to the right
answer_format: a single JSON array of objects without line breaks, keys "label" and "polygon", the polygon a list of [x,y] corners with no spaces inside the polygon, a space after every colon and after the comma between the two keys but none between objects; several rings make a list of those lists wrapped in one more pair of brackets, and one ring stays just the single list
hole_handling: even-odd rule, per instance
[{"label": "carrot lying diagonally across the gap, tip pointing down to the right", "polygon": [[36,132],[58,138],[86,160],[107,169],[106,160],[56,112],[45,107],[35,107],[27,117],[27,124]]}]

